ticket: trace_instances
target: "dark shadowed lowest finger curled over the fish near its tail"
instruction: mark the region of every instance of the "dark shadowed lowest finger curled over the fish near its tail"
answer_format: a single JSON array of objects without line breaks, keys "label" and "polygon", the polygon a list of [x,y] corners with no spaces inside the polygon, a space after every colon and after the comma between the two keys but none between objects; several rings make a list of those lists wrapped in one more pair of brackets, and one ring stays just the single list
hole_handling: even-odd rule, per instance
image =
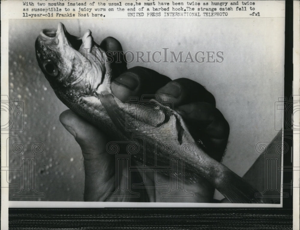
[{"label": "dark shadowed lowest finger curled over the fish near its tail", "polygon": [[181,105],[177,111],[195,140],[204,144],[213,158],[221,160],[229,136],[229,125],[222,113],[207,102]]}]

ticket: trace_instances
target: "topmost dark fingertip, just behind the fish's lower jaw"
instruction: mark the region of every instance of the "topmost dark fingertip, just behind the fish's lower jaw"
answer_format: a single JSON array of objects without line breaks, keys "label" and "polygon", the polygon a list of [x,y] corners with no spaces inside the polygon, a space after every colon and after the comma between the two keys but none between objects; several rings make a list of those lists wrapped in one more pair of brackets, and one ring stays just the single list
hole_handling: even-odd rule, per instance
[{"label": "topmost dark fingertip, just behind the fish's lower jaw", "polygon": [[100,43],[100,48],[106,52],[108,61],[111,63],[112,78],[116,78],[127,70],[127,62],[121,43],[113,37],[107,37]]}]

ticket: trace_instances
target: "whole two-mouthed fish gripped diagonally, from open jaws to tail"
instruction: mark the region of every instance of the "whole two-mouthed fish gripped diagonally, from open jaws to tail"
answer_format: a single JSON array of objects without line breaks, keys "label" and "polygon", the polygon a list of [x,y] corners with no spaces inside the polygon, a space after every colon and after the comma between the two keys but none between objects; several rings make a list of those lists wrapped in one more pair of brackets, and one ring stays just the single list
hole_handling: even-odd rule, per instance
[{"label": "whole two-mouthed fish gripped diagonally, from open jaws to tail", "polygon": [[[128,102],[116,98],[111,90],[113,65],[90,30],[76,37],[62,23],[43,29],[35,41],[35,51],[58,99],[105,130],[114,143],[134,143],[131,157],[135,161],[150,168],[166,166],[170,165],[170,155],[183,154],[185,171],[178,173],[184,176],[172,176],[187,181],[204,178],[232,203],[263,203],[253,186],[205,152],[205,146],[195,141],[171,102],[155,97]],[[113,145],[107,147],[108,152],[112,149]]]}]

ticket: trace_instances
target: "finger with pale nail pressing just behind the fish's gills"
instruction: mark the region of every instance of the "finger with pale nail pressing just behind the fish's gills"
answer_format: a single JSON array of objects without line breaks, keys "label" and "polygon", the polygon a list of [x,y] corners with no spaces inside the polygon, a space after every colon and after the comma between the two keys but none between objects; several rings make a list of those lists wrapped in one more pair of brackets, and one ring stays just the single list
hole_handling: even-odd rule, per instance
[{"label": "finger with pale nail pressing just behind the fish's gills", "polygon": [[129,97],[154,94],[169,81],[170,78],[152,69],[136,66],[114,79],[111,90],[118,99],[126,102]]}]

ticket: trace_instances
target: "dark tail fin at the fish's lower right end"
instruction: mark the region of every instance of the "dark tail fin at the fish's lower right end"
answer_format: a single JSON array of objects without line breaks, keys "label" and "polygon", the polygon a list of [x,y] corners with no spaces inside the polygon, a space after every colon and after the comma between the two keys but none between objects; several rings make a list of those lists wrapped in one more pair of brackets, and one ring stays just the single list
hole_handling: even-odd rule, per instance
[{"label": "dark tail fin at the fish's lower right end", "polygon": [[[224,166],[225,167],[225,166]],[[244,181],[240,176],[227,167],[223,179],[215,181],[216,189],[232,203],[264,203],[259,193],[252,185]]]}]

